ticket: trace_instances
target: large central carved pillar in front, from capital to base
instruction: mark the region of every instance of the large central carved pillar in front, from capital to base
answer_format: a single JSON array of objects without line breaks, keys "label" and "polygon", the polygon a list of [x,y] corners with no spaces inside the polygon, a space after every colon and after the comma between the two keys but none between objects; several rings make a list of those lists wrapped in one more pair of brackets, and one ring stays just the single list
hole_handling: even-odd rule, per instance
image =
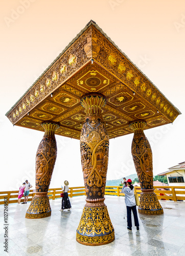
[{"label": "large central carved pillar in front, from capital to base", "polygon": [[81,104],[86,109],[80,136],[86,204],[77,228],[77,242],[103,245],[114,240],[114,229],[104,204],[109,148],[109,137],[101,116],[105,98],[98,93],[87,94]]}]

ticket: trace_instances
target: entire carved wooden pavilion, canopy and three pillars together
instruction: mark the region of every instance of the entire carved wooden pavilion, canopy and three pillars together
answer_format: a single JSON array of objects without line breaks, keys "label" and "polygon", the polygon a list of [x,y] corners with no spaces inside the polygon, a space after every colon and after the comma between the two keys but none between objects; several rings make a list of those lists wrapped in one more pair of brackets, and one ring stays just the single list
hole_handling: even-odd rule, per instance
[{"label": "entire carved wooden pavilion, canopy and three pillars together", "polygon": [[47,196],[57,156],[55,134],[80,140],[86,204],[77,241],[114,240],[104,204],[109,138],[133,133],[132,156],[142,194],[138,211],[163,214],[153,193],[152,151],[144,130],[180,112],[90,20],[6,114],[13,125],[43,131],[36,153],[36,194],[26,218],[51,215]]}]

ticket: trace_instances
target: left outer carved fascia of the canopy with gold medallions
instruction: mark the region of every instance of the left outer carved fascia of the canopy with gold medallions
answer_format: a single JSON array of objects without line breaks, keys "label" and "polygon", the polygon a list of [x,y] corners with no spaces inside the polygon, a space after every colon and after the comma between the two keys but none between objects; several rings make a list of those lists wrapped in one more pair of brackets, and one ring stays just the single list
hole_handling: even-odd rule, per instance
[{"label": "left outer carved fascia of the canopy with gold medallions", "polygon": [[[51,92],[88,62],[84,46],[87,38],[91,37],[91,27],[73,42],[54,64],[35,82],[30,90],[17,102],[7,114],[9,120],[15,124],[29,113],[38,103],[48,97]],[[73,93],[76,93],[75,90]]]}]

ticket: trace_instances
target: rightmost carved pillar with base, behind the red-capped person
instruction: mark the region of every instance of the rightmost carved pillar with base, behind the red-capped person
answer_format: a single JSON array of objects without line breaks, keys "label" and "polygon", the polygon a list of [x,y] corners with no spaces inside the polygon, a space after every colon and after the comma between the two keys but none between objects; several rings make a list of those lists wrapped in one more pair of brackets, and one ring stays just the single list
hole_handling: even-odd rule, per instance
[{"label": "rightmost carved pillar with base, behind the red-capped person", "polygon": [[138,120],[130,123],[129,126],[134,131],[131,151],[142,190],[138,212],[147,215],[163,214],[163,208],[153,189],[152,150],[143,132],[146,122]]}]

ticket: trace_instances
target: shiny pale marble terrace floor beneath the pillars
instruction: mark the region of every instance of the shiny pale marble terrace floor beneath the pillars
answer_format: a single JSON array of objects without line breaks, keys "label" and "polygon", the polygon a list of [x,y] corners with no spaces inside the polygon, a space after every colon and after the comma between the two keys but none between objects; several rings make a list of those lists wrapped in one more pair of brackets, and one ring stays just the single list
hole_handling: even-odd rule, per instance
[{"label": "shiny pale marble terrace floor beneath the pillars", "polygon": [[50,200],[52,216],[25,218],[28,204],[8,206],[8,253],[4,252],[4,205],[0,206],[0,255],[185,255],[185,202],[160,200],[164,215],[139,214],[140,230],[127,230],[124,197],[106,196],[115,240],[102,246],[76,242],[85,196],[70,199],[72,211],[60,212],[61,199]]}]

